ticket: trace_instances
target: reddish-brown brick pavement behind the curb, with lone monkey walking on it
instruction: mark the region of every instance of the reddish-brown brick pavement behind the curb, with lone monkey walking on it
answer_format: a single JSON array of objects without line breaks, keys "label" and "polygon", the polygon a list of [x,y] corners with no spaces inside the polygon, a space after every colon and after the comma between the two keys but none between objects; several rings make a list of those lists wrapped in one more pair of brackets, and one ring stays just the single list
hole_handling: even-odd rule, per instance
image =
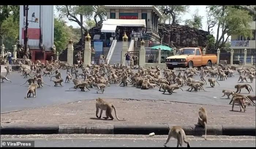
[{"label": "reddish-brown brick pavement behind the curb, with lone monkey walking on it", "polygon": [[[28,99],[29,100],[29,99]],[[226,99],[223,99],[226,100]],[[251,125],[255,126],[255,106],[246,106],[246,111],[240,112],[238,105],[230,111],[232,105],[199,105],[164,100],[129,100],[106,99],[112,102],[117,110],[117,116],[126,121],[99,120],[96,115],[96,100],[84,100],[68,104],[52,105],[18,112],[1,114],[3,124],[197,124],[200,106],[207,109],[208,125]],[[229,102],[230,100],[227,100]],[[99,114],[98,114],[99,115]],[[105,116],[105,111],[102,117]]]}]

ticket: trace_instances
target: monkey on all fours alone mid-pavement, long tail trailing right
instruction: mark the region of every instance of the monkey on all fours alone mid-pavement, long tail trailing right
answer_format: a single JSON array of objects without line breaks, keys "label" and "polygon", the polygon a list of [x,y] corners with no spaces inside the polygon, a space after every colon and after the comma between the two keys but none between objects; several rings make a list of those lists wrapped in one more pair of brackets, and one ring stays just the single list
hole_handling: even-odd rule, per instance
[{"label": "monkey on all fours alone mid-pavement, long tail trailing right", "polygon": [[[104,84],[104,85],[105,85],[105,84]],[[98,116],[99,109],[101,109],[101,113],[100,113],[99,116]],[[123,119],[123,120],[120,120],[120,119],[117,117],[116,108],[114,107],[113,104],[111,104],[111,103],[109,103],[109,102],[106,102],[106,101],[104,101],[104,100],[101,99],[101,98],[96,99],[96,117],[97,117],[97,118],[101,118],[101,115],[102,115],[103,110],[106,110],[106,117],[103,117],[103,118],[105,118],[105,119],[107,120],[107,119],[110,117],[110,118],[111,118],[110,120],[113,120],[114,117],[112,116],[112,109],[114,109],[114,112],[115,112],[115,115],[116,115],[116,119],[117,119],[118,121],[125,121],[124,119]]]}]

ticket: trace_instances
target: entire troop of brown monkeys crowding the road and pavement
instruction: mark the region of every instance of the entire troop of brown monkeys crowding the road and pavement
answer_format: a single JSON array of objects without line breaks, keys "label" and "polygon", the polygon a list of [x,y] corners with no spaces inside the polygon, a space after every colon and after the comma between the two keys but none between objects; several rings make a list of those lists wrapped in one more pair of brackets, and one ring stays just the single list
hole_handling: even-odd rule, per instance
[{"label": "entire troop of brown monkeys crowding the road and pavement", "polygon": [[[123,86],[127,86],[128,83],[132,84],[132,86],[136,86],[140,89],[153,89],[155,86],[159,88],[159,91],[163,89],[163,94],[167,91],[169,94],[172,94],[174,90],[181,89],[182,86],[188,86],[189,92],[191,92],[193,89],[197,92],[200,91],[200,89],[204,90],[203,85],[207,84],[206,76],[210,77],[217,77],[215,78],[208,78],[208,82],[210,83],[211,87],[215,86],[215,82],[219,84],[217,81],[220,80],[227,80],[227,77],[234,76],[234,72],[237,71],[240,75],[239,80],[243,82],[246,80],[246,77],[250,79],[251,82],[253,82],[253,78],[255,78],[255,68],[236,68],[233,66],[227,67],[223,65],[219,65],[218,67],[201,67],[201,70],[198,71],[197,68],[187,68],[184,71],[176,73],[176,71],[164,69],[163,70],[163,77],[161,75],[161,70],[159,67],[150,67],[149,69],[139,67],[138,72],[133,72],[130,68],[127,68],[123,64],[114,64],[113,66],[110,66],[108,64],[99,64],[99,65],[87,65],[86,67],[82,65],[82,73],[79,73],[79,68],[77,64],[71,65],[67,63],[63,63],[60,61],[53,61],[52,63],[49,63],[46,61],[46,64],[41,63],[41,61],[37,60],[35,63],[31,63],[30,69],[27,69],[25,65],[19,64],[19,70],[18,72],[22,72],[22,76],[24,78],[27,78],[27,76],[30,76],[25,83],[21,84],[24,85],[27,82],[29,83],[29,88],[26,93],[26,97],[30,97],[31,94],[33,94],[33,97],[36,97],[36,89],[41,87],[44,87],[42,84],[46,84],[42,76],[51,76],[49,78],[50,81],[54,82],[54,86],[57,86],[60,84],[62,86],[62,82],[64,81],[63,78],[61,78],[61,72],[59,69],[65,69],[67,70],[67,76],[65,78],[65,83],[69,83],[70,80],[72,80],[72,77],[75,76],[75,78],[72,80],[74,82],[74,88],[77,90],[78,88],[82,91],[86,92],[87,90],[90,90],[89,88],[93,88],[96,86],[98,88],[97,93],[99,90],[101,90],[101,93],[104,92],[106,86],[109,84],[117,84],[119,83],[120,86],[123,84]],[[5,67],[7,70],[7,74],[10,74],[9,67]],[[43,71],[44,70],[44,71]],[[35,75],[32,77],[31,72],[35,71]],[[43,71],[43,75],[42,75]],[[53,73],[52,73],[53,71]],[[52,76],[55,73],[55,76]],[[199,74],[200,80],[195,80],[193,76],[197,76]],[[2,82],[3,80],[9,80],[6,76],[1,75]],[[81,76],[82,78],[79,78]],[[52,80],[52,78],[55,77],[56,80]],[[130,80],[129,80],[130,79]],[[36,82],[36,83],[35,83]],[[48,85],[50,86],[50,85]],[[230,95],[233,97],[230,100],[230,103],[233,101],[232,110],[234,108],[234,104],[238,104],[241,109],[245,112],[245,104],[248,102],[249,104],[255,105],[253,100],[255,101],[255,96],[248,95],[245,96],[244,94],[240,94],[241,89],[245,88],[250,91],[252,90],[252,86],[249,84],[237,84],[234,86],[237,91],[231,91],[231,90],[222,90],[223,96],[227,96],[227,98],[230,98]],[[250,88],[249,88],[250,87]],[[75,91],[75,90],[67,90],[67,91]],[[182,90],[183,91],[183,90]],[[206,90],[204,90],[206,92]],[[239,91],[239,93],[237,93]],[[221,96],[221,97],[223,97]],[[100,115],[98,116],[99,109],[101,109]],[[112,109],[114,109],[115,115],[117,120],[120,120],[117,117],[116,109],[113,104],[110,104],[109,102],[106,102],[102,100],[101,98],[98,98],[96,101],[96,117],[101,118],[103,110],[106,111],[106,117],[103,117],[105,119],[108,119],[110,117],[110,120],[113,120],[114,117],[112,116]],[[206,139],[206,132],[207,132],[207,112],[206,109],[201,107],[199,109],[199,118],[198,118],[198,125],[203,126],[205,129],[205,139]],[[180,145],[182,146],[182,142],[184,141],[188,147],[189,142],[186,139],[186,135],[184,133],[184,130],[180,126],[173,126],[169,130],[168,138],[165,142],[167,144],[170,140],[170,137],[177,138],[177,147]]]}]

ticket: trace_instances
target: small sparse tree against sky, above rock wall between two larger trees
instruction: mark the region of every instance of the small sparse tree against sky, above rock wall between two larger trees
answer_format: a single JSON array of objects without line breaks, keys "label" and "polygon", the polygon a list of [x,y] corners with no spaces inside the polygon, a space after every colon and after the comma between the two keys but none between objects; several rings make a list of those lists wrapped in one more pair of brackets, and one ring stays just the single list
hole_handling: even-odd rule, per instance
[{"label": "small sparse tree against sky, above rock wall between two larger trees", "polygon": [[192,19],[185,20],[185,25],[200,29],[202,28],[202,19],[203,17],[198,15],[198,9],[196,9],[195,13],[192,15]]}]

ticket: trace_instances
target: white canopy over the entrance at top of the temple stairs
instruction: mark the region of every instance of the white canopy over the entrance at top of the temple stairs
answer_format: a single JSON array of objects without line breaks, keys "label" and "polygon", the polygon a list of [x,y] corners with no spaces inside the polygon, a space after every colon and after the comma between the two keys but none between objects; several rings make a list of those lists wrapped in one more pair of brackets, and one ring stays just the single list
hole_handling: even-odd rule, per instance
[{"label": "white canopy over the entrance at top of the temple stairs", "polygon": [[146,21],[144,19],[108,19],[103,21],[101,32],[114,33],[117,26],[146,27]]}]

